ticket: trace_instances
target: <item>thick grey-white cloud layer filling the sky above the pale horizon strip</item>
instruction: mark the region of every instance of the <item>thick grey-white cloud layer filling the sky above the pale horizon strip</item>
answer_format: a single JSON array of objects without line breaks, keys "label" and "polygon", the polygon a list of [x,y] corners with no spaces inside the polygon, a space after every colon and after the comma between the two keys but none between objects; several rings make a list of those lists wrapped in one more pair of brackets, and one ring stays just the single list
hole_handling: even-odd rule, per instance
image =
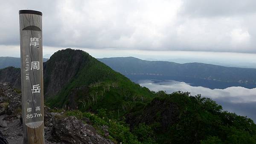
[{"label": "thick grey-white cloud layer filling the sky above the pale horizon strip", "polygon": [[255,7],[255,0],[9,0],[0,5],[0,45],[19,45],[18,10],[34,9],[43,12],[45,46],[256,53]]}]

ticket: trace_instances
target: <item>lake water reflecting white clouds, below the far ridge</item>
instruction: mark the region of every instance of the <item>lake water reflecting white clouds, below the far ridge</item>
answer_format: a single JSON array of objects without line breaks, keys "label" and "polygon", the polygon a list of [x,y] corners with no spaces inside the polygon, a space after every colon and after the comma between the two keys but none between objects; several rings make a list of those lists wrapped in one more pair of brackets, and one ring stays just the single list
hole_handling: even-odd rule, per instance
[{"label": "lake water reflecting white clouds, below the far ridge", "polygon": [[222,105],[224,110],[247,116],[256,122],[256,88],[247,89],[240,86],[233,86],[226,89],[209,89],[172,80],[140,80],[138,83],[155,92],[164,90],[167,93],[172,93],[180,90],[191,92],[191,95],[201,94],[204,97],[212,98],[218,104]]}]

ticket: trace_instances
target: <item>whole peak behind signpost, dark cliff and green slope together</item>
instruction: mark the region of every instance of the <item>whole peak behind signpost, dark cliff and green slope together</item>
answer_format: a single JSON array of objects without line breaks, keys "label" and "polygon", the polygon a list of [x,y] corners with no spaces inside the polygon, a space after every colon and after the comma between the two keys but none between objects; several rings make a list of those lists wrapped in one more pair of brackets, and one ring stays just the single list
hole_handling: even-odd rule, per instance
[{"label": "whole peak behind signpost, dark cliff and green slope together", "polygon": [[[20,84],[20,69],[8,67],[0,69],[0,74],[1,81]],[[149,101],[152,96],[149,89],[81,50],[60,50],[44,63],[44,98],[51,107],[118,109],[116,115],[121,115],[131,107],[129,102]]]}]

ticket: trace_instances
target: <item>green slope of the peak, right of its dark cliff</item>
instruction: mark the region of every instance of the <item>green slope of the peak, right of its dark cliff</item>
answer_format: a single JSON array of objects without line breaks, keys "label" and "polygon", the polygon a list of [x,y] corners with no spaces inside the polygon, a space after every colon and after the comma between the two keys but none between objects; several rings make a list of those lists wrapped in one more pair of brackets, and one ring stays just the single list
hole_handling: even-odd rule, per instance
[{"label": "green slope of the peak, right of its dark cliff", "polygon": [[[72,63],[69,60],[70,53],[64,51],[61,52],[61,55],[58,55],[57,52],[49,61],[58,60],[60,56],[65,57],[67,63]],[[47,105],[58,108],[76,105],[82,112],[88,110],[96,112],[97,109],[104,108],[108,112],[113,111],[113,115],[120,117],[138,102],[148,102],[153,98],[154,94],[148,88],[131,82],[88,53],[82,52],[82,59],[85,61],[81,63],[77,74],[61,89],[58,95],[47,98]],[[54,69],[54,66],[51,69]],[[46,85],[48,81],[45,80]]]}]

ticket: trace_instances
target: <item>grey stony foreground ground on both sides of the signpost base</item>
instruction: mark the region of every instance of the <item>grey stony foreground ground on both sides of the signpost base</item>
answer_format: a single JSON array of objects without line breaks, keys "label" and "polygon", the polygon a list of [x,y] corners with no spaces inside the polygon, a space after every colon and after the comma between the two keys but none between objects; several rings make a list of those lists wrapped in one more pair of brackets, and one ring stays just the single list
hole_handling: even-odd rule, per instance
[{"label": "grey stony foreground ground on both sides of the signpost base", "polygon": [[[74,116],[44,110],[46,144],[113,144]],[[0,83],[0,132],[9,144],[23,144],[21,94],[6,82]]]}]

